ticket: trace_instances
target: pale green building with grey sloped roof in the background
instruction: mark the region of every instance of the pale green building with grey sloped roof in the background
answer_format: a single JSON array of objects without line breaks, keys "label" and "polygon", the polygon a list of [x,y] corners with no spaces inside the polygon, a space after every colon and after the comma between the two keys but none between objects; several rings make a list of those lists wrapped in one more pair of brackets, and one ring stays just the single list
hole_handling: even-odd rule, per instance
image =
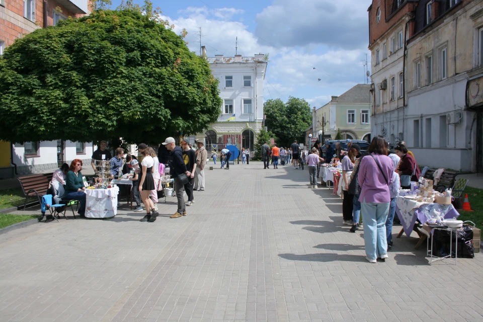
[{"label": "pale green building with grey sloped roof in the background", "polygon": [[334,140],[340,129],[343,139],[370,141],[370,90],[370,85],[358,84],[341,96],[333,96],[329,103],[315,110],[313,137],[319,137],[319,131],[323,130],[324,140]]}]

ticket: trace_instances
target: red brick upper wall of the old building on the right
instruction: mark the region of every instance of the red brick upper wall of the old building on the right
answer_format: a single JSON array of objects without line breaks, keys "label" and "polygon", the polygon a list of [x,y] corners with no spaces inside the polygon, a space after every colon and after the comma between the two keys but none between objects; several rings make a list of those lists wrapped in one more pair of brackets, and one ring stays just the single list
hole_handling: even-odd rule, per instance
[{"label": "red brick upper wall of the old building on the right", "polygon": [[[393,1],[395,0],[373,0],[370,7],[369,14],[369,47],[379,39],[391,26],[401,19],[407,13],[414,10],[413,4],[403,2],[399,8],[394,10],[393,14]],[[376,21],[377,10],[381,9],[381,20]],[[392,16],[391,16],[392,15]],[[386,21],[387,20],[387,21]],[[411,35],[411,33],[410,33]]]}]

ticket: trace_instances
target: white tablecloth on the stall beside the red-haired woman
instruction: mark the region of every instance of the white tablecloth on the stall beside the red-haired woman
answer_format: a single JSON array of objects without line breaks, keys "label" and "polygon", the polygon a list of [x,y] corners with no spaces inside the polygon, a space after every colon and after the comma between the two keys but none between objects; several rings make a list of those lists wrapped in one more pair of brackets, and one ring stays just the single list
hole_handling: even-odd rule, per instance
[{"label": "white tablecloth on the stall beside the red-haired woman", "polygon": [[86,189],[86,217],[109,218],[117,214],[119,187]]}]

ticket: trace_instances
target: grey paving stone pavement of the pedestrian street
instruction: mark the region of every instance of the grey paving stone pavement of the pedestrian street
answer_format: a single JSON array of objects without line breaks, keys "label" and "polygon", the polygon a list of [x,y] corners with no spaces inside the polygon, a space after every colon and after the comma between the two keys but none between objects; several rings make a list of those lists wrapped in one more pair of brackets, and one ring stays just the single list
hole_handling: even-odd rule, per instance
[{"label": "grey paving stone pavement of the pedestrian street", "polygon": [[483,256],[430,266],[403,237],[370,264],[340,198],[307,185],[306,169],[215,167],[186,217],[168,198],[154,223],[123,210],[2,234],[0,320],[483,320]]}]

